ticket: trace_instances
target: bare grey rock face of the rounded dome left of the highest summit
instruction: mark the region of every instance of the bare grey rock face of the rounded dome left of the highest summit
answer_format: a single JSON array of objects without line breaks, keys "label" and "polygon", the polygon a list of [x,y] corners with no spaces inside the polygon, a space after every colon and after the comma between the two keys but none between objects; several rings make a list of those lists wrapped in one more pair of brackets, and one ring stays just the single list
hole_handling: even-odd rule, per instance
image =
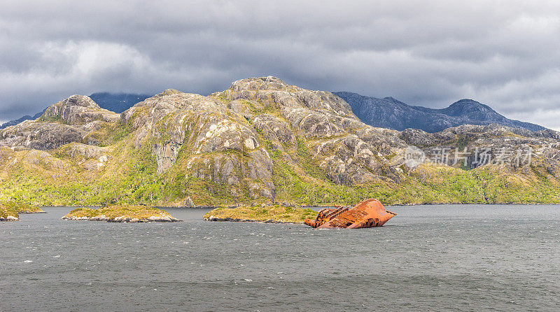
[{"label": "bare grey rock face of the rounded dome left of the highest summit", "polygon": [[[211,178],[215,183],[230,185],[232,196],[240,194],[242,183],[248,183],[242,181],[259,180],[259,192],[272,199],[272,160],[245,118],[251,116],[246,105],[166,90],[123,112],[121,122],[136,128],[136,148],[152,146],[158,174],[171,169],[179,151],[186,148],[186,169],[196,178]],[[237,154],[229,152],[246,157],[241,161]],[[218,155],[211,157],[214,153]]]}]

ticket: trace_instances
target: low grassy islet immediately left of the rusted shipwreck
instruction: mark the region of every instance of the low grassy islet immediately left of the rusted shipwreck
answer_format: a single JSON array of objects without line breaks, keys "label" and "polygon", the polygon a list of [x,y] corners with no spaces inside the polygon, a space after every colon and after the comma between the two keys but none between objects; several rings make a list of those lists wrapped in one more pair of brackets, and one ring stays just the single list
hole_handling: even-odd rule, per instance
[{"label": "low grassy islet immediately left of the rusted shipwreck", "polygon": [[221,207],[209,211],[203,218],[207,221],[303,223],[305,219],[316,216],[317,212],[310,208],[272,205]]}]

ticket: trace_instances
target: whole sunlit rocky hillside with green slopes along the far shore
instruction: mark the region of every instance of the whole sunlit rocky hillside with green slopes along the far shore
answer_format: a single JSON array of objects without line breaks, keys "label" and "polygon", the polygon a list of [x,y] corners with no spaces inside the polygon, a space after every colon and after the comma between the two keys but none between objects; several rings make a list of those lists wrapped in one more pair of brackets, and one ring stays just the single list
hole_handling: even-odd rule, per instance
[{"label": "whole sunlit rocky hillside with green slopes along the far shore", "polygon": [[[409,145],[421,162],[409,162]],[[0,131],[0,200],[559,202],[559,146],[552,130],[371,127],[335,94],[249,78],[207,97],[165,90],[120,114],[78,95],[53,104],[37,120]],[[491,161],[481,161],[482,148]],[[518,155],[526,150],[529,162]],[[466,160],[453,162],[459,152]]]}]

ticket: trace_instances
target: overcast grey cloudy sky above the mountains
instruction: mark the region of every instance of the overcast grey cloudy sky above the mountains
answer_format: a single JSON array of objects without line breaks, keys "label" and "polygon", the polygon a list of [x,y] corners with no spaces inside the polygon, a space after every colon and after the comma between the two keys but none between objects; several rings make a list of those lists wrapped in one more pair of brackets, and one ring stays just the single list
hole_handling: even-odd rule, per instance
[{"label": "overcast grey cloudy sky above the mountains", "polygon": [[560,129],[560,1],[0,0],[0,122],[71,94],[269,75]]}]

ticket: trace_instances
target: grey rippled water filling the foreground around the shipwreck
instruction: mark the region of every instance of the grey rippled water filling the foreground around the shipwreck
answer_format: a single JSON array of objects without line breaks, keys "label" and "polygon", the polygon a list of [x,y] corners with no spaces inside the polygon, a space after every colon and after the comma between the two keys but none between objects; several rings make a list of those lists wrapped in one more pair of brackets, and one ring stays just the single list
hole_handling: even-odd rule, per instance
[{"label": "grey rippled water filling the foreground around the shipwreck", "polygon": [[384,227],[0,223],[0,311],[559,311],[560,206],[398,206]]}]

